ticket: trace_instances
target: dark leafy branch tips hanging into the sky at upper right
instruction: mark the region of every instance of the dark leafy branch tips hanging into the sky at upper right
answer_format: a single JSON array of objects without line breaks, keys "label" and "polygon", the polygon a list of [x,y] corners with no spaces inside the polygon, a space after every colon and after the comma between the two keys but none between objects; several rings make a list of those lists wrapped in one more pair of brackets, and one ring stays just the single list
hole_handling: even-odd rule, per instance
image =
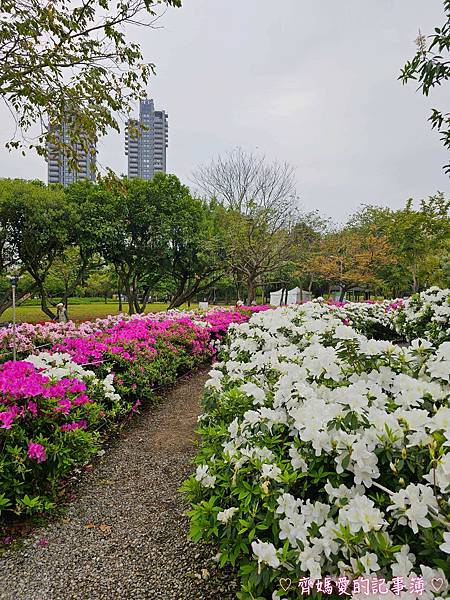
[{"label": "dark leafy branch tips hanging into the sky at upper right", "polygon": [[[419,90],[425,96],[450,78],[450,0],[444,0],[444,12],[447,20],[442,27],[436,27],[433,35],[427,39],[419,32],[416,55],[405,64],[400,75],[404,84],[418,80]],[[429,120],[441,134],[444,147],[450,150],[450,113],[434,108]],[[450,163],[444,169],[450,173]]]}]

